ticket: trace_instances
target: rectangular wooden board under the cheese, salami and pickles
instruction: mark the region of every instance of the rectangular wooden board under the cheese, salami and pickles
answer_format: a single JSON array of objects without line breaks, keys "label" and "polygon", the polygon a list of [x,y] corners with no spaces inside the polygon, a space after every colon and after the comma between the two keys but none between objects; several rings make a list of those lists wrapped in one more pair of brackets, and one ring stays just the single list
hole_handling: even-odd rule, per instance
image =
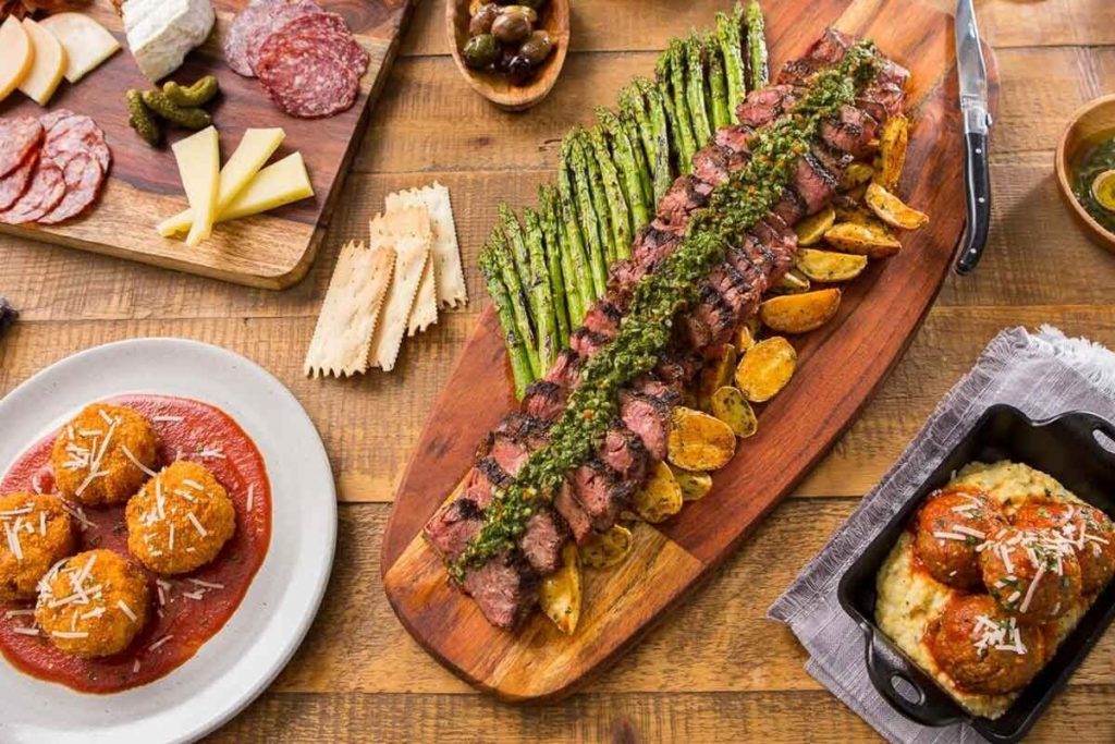
[{"label": "rectangular wooden board under the cheese, salami and pickles", "polygon": [[[368,120],[395,56],[413,0],[318,0],[348,21],[357,40],[371,56],[361,80],[361,93],[348,112],[324,119],[298,119],[271,104],[259,80],[233,73],[224,61],[223,40],[230,23],[248,0],[215,0],[216,28],[206,44],[186,58],[167,79],[184,83],[216,75],[222,95],[213,119],[221,133],[221,153],[227,158],[244,129],[282,127],[287,139],[272,162],[299,151],[306,158],[316,195],[268,214],[224,223],[196,249],[181,240],[164,239],[155,225],[186,206],[174,155],[168,146],[148,147],[128,127],[124,94],[152,84],[139,73],[127,50],[120,18],[109,0],[95,0],[86,9],[124,46],[108,62],[77,85],[62,83],[47,108],[14,93],[0,104],[0,117],[41,115],[69,108],[91,116],[105,131],[113,149],[113,168],[97,205],[61,225],[8,226],[3,232],[107,253],[240,284],[283,289],[298,282],[313,262],[318,244],[341,191],[349,162]],[[167,142],[186,136],[168,129]]]}]

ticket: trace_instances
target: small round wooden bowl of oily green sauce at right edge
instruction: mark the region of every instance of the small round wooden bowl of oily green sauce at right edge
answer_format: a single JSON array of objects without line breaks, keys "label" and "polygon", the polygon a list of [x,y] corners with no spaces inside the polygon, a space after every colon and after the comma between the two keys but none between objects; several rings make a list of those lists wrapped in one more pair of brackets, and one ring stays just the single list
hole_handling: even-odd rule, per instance
[{"label": "small round wooden bowl of oily green sauce at right edge", "polygon": [[1057,183],[1090,236],[1115,251],[1115,95],[1080,107],[1057,145]]}]

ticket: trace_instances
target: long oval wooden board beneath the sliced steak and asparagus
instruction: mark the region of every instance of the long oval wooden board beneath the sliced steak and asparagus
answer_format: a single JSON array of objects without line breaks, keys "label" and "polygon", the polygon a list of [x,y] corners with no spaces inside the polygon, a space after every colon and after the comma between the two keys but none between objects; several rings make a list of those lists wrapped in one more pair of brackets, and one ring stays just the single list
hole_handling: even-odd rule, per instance
[{"label": "long oval wooden board beneath the sliced steak and asparagus", "polygon": [[739,544],[852,423],[905,349],[949,271],[964,224],[952,18],[911,0],[765,4],[775,64],[803,54],[835,25],[874,39],[912,70],[914,128],[899,193],[928,211],[932,222],[903,235],[899,255],[873,263],[847,284],[833,321],[792,339],[797,374],[759,412],[758,434],[741,441],[733,462],[714,473],[712,491],[665,524],[639,523],[632,553],[618,568],[585,571],[580,625],[570,637],[541,613],[515,632],[488,625],[477,606],[449,584],[420,535],[458,486],[481,438],[513,403],[498,321],[491,308],[484,313],[403,477],[384,537],[382,567],[385,591],[407,630],[455,674],[502,698],[569,693],[633,644]]}]

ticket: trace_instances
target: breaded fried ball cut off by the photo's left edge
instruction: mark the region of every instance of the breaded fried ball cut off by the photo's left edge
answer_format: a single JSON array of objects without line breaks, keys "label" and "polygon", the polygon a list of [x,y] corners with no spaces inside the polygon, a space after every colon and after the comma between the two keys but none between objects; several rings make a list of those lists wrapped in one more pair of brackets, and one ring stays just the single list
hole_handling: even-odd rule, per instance
[{"label": "breaded fried ball cut off by the photo's left edge", "polygon": [[39,579],[74,552],[74,524],[58,496],[0,497],[0,602],[35,599]]}]

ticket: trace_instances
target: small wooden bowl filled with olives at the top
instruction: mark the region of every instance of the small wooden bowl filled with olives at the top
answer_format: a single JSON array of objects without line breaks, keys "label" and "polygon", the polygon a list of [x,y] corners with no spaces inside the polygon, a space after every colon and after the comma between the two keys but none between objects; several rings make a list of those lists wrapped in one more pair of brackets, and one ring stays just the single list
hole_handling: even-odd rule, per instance
[{"label": "small wooden bowl filled with olives at the top", "polygon": [[524,110],[549,95],[569,50],[569,0],[450,0],[449,44],[468,85]]}]

